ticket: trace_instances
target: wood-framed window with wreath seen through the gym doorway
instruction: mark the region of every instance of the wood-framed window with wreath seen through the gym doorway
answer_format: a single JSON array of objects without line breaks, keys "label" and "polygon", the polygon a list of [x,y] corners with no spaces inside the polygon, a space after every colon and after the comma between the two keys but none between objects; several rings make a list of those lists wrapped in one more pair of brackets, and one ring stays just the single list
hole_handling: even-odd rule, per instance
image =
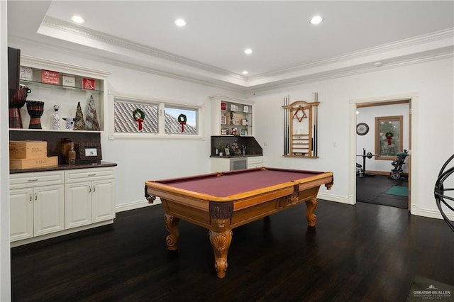
[{"label": "wood-framed window with wreath seen through the gym doorway", "polygon": [[394,160],[403,149],[404,116],[375,118],[375,154],[377,160]]}]

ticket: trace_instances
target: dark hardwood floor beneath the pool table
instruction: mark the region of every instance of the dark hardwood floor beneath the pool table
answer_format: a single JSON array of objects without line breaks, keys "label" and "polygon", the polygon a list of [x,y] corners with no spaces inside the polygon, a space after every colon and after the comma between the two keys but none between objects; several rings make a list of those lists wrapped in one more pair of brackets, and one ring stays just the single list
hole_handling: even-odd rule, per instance
[{"label": "dark hardwood floor beneath the pool table", "polygon": [[[434,201],[435,202],[435,201]],[[233,230],[218,279],[208,231],[180,222],[167,251],[161,206],[114,225],[11,249],[13,301],[405,301],[416,274],[454,284],[454,233],[402,208],[319,201]]]}]

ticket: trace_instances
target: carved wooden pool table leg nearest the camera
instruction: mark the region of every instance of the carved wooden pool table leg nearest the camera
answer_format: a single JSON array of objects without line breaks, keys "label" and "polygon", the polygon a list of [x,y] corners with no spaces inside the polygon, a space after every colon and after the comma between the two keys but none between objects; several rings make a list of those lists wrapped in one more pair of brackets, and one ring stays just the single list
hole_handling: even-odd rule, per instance
[{"label": "carved wooden pool table leg nearest the camera", "polygon": [[232,242],[232,230],[221,233],[209,230],[209,237],[214,251],[214,269],[218,278],[223,278],[227,271],[227,253]]}]

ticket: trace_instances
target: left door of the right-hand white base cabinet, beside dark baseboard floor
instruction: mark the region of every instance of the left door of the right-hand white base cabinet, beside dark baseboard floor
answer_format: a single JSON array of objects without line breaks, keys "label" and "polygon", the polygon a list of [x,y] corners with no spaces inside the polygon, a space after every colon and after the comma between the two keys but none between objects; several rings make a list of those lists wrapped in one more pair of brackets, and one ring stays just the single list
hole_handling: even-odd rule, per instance
[{"label": "left door of the right-hand white base cabinet, beside dark baseboard floor", "polygon": [[92,181],[65,185],[66,228],[92,223]]}]

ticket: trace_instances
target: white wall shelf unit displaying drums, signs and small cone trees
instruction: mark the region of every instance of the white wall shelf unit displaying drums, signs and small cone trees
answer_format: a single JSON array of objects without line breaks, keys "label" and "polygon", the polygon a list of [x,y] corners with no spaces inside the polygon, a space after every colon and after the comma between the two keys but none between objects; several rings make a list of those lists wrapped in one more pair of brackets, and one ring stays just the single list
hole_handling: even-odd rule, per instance
[{"label": "white wall shelf unit displaying drums, signs and small cone trees", "polygon": [[[18,98],[21,104],[10,105],[10,130],[104,131],[106,77],[108,72],[21,56],[26,94]],[[40,104],[40,110],[25,104]]]}]

